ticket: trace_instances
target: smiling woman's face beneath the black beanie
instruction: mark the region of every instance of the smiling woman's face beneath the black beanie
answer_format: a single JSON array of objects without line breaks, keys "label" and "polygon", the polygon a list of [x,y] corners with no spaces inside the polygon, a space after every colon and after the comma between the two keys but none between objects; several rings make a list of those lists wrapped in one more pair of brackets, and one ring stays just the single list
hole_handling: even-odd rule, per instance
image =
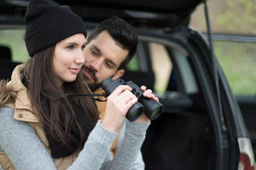
[{"label": "smiling woman's face beneath the black beanie", "polygon": [[60,79],[59,85],[76,79],[76,75],[84,64],[85,43],[84,34],[75,34],[56,44],[53,69]]}]

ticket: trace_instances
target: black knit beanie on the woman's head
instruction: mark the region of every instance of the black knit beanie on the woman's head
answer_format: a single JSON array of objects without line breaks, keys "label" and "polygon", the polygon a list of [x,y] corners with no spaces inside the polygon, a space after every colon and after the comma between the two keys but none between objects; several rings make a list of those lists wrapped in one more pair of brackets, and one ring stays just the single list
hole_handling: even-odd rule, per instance
[{"label": "black knit beanie on the woman's head", "polygon": [[74,34],[87,36],[81,17],[69,6],[60,6],[53,0],[30,0],[25,23],[25,42],[30,57]]}]

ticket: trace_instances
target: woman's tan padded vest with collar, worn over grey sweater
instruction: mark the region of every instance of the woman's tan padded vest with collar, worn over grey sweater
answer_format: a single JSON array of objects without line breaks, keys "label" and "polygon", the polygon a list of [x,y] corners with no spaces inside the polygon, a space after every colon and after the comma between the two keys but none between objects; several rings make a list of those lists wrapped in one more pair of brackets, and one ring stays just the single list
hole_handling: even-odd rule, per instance
[{"label": "woman's tan padded vest with collar, worn over grey sweater", "polygon": [[[12,73],[11,82],[9,82],[7,86],[3,84],[0,85],[0,96],[3,97],[2,99],[6,99],[6,101],[9,101],[4,104],[0,103],[0,107],[2,105],[5,105],[9,108],[14,109],[14,119],[28,122],[29,125],[35,129],[38,138],[44,144],[45,148],[49,152],[49,155],[51,155],[48,140],[45,136],[44,130],[38,123],[38,119],[35,117],[32,111],[28,90],[21,82],[25,68],[25,64],[18,65]],[[78,155],[79,151],[77,151],[76,154]],[[52,158],[52,161],[54,162],[55,167],[58,170],[65,170],[73,163],[73,161],[76,160],[76,154],[74,153],[71,156],[60,159]],[[0,152],[0,165],[4,170],[15,170],[12,162],[3,152]]]}]

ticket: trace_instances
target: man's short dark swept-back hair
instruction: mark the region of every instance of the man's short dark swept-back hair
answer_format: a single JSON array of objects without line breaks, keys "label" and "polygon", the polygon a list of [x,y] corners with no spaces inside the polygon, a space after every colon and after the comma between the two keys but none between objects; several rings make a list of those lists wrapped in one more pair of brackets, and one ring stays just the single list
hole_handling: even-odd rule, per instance
[{"label": "man's short dark swept-back hair", "polygon": [[138,37],[135,29],[130,24],[125,22],[125,20],[114,16],[99,23],[99,25],[88,37],[87,43],[93,39],[96,39],[96,37],[102,31],[108,31],[117,45],[119,45],[122,49],[129,51],[126,59],[121,63],[117,70],[125,68],[137,50]]}]

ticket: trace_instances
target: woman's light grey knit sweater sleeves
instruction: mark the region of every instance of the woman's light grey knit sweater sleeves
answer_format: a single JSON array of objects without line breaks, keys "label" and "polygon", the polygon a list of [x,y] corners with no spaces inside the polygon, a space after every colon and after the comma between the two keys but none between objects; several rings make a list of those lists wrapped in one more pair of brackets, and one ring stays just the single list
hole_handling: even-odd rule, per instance
[{"label": "woman's light grey knit sweater sleeves", "polygon": [[[27,122],[15,120],[13,116],[13,109],[0,108],[0,151],[7,154],[17,170],[56,170],[35,130]],[[99,120],[84,149],[68,170],[130,170],[148,126],[126,121],[124,139],[112,159],[109,150],[117,133],[103,127]]]}]

